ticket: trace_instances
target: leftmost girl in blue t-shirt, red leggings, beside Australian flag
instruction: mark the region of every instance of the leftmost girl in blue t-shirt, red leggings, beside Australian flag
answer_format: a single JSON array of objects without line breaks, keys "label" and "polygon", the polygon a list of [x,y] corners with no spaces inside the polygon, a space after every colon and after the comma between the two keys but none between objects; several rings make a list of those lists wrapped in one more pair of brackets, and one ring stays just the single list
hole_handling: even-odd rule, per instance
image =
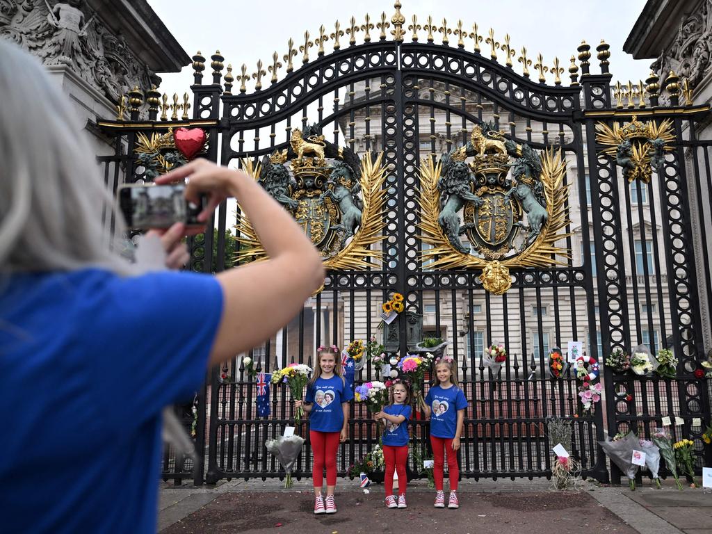
[{"label": "leftmost girl in blue t-shirt, red leggings, beside Australian flag", "polygon": [[[336,513],[336,451],[346,441],[349,401],[354,398],[343,377],[341,362],[337,360],[336,345],[317,349],[317,365],[309,384],[303,406],[309,416],[309,442],[314,453],[314,513]],[[326,467],[326,499],[321,496],[322,477]]]}]

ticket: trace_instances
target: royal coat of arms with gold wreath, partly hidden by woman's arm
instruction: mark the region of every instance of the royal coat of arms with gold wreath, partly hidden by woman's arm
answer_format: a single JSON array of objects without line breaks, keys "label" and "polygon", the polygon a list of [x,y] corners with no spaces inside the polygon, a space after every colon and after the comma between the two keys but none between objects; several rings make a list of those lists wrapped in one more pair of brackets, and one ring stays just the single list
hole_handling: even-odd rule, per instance
[{"label": "royal coat of arms with gold wreath, partly hidden by woman's arm", "polygon": [[[384,239],[382,155],[362,159],[325,140],[315,126],[292,132],[290,146],[243,168],[302,226],[319,249],[325,267],[365,269],[382,252],[371,245]],[[244,214],[237,214],[238,261],[266,258]]]}]

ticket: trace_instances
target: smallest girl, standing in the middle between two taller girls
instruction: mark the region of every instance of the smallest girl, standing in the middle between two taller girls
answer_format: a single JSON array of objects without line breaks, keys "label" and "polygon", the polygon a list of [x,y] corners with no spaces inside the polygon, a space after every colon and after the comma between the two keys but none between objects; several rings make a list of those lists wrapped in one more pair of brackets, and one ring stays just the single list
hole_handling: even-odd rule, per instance
[{"label": "smallest girl, standing in the middle between two taller girls", "polygon": [[[410,392],[405,384],[396,382],[391,386],[390,404],[382,412],[374,414],[376,420],[383,419],[383,459],[386,464],[384,485],[388,508],[407,508],[405,489],[408,477],[405,464],[408,460],[408,419],[410,419]],[[393,473],[398,473],[398,500],[393,496]]]}]

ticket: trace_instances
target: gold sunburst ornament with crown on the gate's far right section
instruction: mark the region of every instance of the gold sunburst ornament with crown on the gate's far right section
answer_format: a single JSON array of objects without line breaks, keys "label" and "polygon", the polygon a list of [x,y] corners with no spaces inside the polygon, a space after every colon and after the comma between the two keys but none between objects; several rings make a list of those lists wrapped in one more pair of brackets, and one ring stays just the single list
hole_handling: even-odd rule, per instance
[{"label": "gold sunburst ornament with crown on the gate's far right section", "polygon": [[605,122],[596,123],[596,141],[605,148],[603,155],[613,159],[621,167],[628,182],[639,179],[650,182],[653,171],[659,172],[665,163],[665,153],[671,152],[674,142],[672,121],[641,122],[633,115],[627,125],[614,122],[610,127]]}]

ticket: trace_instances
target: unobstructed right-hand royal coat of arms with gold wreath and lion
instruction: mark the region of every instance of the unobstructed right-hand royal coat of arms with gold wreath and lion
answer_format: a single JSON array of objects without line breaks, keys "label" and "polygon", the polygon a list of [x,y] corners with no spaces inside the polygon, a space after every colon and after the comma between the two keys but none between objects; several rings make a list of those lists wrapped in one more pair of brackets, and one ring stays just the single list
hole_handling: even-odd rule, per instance
[{"label": "unobstructed right-hand royal coat of arms with gold wreath and lion", "polygon": [[[421,165],[422,253],[429,268],[480,268],[483,286],[501,295],[510,267],[549,266],[568,257],[555,246],[568,224],[560,151],[538,153],[491,125]],[[464,239],[466,238],[466,239]]]}]

